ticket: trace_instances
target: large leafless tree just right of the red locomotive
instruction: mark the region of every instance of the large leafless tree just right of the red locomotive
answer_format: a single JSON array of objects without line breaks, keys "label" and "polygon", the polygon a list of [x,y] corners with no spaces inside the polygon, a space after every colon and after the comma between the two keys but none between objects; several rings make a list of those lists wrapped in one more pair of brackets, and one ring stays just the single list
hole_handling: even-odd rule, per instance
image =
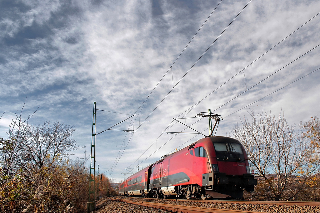
[{"label": "large leafless tree just right of the red locomotive", "polygon": [[[305,188],[310,171],[310,152],[300,130],[290,126],[281,112],[244,117],[242,126],[233,129],[243,142],[249,161],[260,179],[255,196],[264,200],[291,200]],[[297,176],[300,176],[297,181]]]}]

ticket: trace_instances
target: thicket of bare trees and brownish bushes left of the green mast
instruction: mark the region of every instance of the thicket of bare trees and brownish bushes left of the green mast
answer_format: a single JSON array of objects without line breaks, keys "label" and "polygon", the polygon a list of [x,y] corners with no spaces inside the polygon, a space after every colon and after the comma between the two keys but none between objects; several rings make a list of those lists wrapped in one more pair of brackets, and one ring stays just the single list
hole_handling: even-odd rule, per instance
[{"label": "thicket of bare trees and brownish bushes left of the green mast", "polygon": [[84,212],[88,196],[86,159],[70,161],[69,151],[80,148],[73,126],[60,122],[29,125],[21,113],[0,138],[0,211],[65,212],[66,200]]}]

